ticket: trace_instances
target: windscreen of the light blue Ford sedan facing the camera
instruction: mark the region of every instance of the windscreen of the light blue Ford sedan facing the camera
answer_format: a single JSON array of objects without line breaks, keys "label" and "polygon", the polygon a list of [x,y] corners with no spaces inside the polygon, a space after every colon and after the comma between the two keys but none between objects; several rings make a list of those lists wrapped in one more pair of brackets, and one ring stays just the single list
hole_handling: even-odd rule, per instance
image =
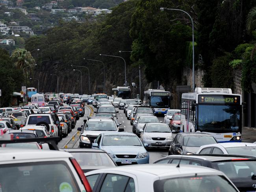
[{"label": "windscreen of the light blue Ford sedan facing the camera", "polygon": [[102,146],[141,146],[135,135],[104,135]]}]

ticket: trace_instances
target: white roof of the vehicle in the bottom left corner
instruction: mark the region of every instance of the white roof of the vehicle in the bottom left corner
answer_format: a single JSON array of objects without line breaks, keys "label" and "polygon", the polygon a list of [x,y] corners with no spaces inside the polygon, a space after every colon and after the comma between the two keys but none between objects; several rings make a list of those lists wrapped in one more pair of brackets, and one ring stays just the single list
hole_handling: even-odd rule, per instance
[{"label": "white roof of the vehicle in the bottom left corner", "polygon": [[[33,162],[34,159],[55,159],[55,158],[70,158],[72,155],[64,151],[55,150],[28,150],[15,148],[0,148],[0,163],[7,161],[11,162],[28,160]],[[5,163],[6,164],[6,163]]]}]

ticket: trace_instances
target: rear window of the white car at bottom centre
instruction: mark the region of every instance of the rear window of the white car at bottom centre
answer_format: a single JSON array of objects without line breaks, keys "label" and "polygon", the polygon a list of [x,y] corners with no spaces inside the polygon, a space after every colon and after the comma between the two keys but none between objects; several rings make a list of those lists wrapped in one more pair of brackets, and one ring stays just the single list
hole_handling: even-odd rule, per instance
[{"label": "rear window of the white car at bottom centre", "polygon": [[237,192],[225,177],[220,175],[200,175],[157,180],[154,192]]}]

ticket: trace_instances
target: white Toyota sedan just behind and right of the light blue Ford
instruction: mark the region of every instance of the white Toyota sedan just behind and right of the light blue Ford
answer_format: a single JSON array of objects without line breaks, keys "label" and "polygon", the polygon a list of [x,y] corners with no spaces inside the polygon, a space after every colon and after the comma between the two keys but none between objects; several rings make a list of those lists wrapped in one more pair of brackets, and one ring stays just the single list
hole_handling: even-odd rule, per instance
[{"label": "white Toyota sedan just behind and right of the light blue Ford", "polygon": [[173,141],[173,134],[164,123],[147,123],[141,131],[141,142],[147,143],[148,148],[169,148]]}]

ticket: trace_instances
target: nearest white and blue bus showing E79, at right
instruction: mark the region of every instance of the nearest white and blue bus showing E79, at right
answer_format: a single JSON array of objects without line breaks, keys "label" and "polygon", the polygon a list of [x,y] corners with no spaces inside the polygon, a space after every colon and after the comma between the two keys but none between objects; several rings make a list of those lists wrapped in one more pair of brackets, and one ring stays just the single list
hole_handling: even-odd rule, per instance
[{"label": "nearest white and blue bus showing E79, at right", "polygon": [[242,99],[227,88],[195,88],[183,93],[180,129],[203,132],[218,142],[241,142]]}]

